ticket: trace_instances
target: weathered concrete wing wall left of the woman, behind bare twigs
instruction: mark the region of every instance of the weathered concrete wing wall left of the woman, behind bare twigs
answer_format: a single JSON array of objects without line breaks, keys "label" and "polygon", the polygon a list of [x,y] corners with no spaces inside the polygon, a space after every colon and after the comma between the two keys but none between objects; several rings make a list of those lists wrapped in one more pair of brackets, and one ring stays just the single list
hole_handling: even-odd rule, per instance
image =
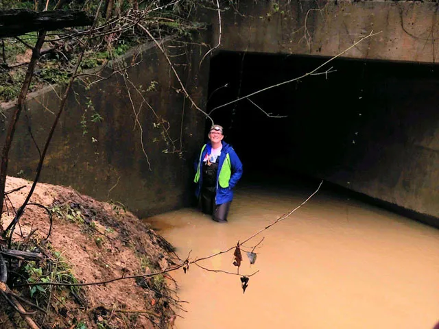
[{"label": "weathered concrete wing wall left of the woman, behind bare twigs", "polygon": [[[97,199],[121,202],[141,217],[189,204],[191,151],[200,147],[205,121],[178,92],[181,87],[161,51],[153,45],[145,48],[140,54],[133,49],[126,56],[126,65],[141,60],[128,69],[129,93],[120,75],[93,84],[90,90],[79,83],[74,85],[45,158],[40,182],[70,185]],[[167,47],[171,55],[175,49]],[[184,50],[185,56],[173,57],[173,61],[193,100],[204,107],[209,59],[202,65],[203,74],[199,74],[202,51],[195,45],[178,47],[178,53]],[[110,72],[107,68],[102,75]],[[57,93],[62,95],[59,88],[46,88],[27,102],[29,110],[21,114],[8,175],[18,173],[34,179],[38,151],[27,123],[42,149],[60,103]],[[10,114],[12,110],[5,112]],[[95,112],[102,116],[102,122],[92,121]],[[4,121],[3,127],[8,123]]]}]

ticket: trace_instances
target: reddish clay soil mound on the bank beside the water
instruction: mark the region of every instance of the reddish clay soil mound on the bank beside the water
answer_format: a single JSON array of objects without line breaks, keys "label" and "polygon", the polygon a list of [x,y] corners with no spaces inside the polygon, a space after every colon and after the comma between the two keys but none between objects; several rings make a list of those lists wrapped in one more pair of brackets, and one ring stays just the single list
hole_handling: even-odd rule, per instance
[{"label": "reddish clay soil mound on the bank beside the water", "polygon": [[[6,192],[25,187],[5,199],[3,228],[14,218],[12,206],[15,209],[21,206],[31,184],[8,177]],[[52,259],[60,253],[78,282],[151,273],[174,264],[169,243],[121,205],[98,202],[73,188],[50,184],[38,184],[30,202],[51,209],[54,215],[51,234],[45,241],[49,232],[47,211],[30,205],[16,226],[14,245],[21,245],[18,247],[21,250],[23,246],[28,250],[29,245],[36,246],[38,249],[31,251],[43,252]],[[5,246],[5,241],[0,243]],[[44,264],[35,265],[38,266]],[[47,293],[51,295],[49,315],[43,321],[44,315],[37,313],[33,319],[42,328],[171,328],[175,319],[171,306],[176,299],[170,288],[172,283],[158,276],[86,286],[77,294],[52,289],[51,294]],[[15,292],[30,299],[29,287],[20,290],[11,285]],[[26,328],[18,313],[5,304],[1,300],[0,327]],[[47,300],[42,304],[46,308]],[[26,309],[32,310],[30,306]]]}]

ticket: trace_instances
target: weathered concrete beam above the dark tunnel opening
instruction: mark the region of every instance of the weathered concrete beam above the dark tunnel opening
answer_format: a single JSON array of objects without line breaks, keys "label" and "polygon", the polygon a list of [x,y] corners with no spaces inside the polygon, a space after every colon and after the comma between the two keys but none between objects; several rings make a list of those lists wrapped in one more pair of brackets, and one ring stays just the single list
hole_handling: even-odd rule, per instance
[{"label": "weathered concrete beam above the dark tunnel opening", "polygon": [[[216,45],[217,15],[204,15],[213,23]],[[218,49],[332,57],[372,31],[379,34],[343,56],[410,62],[438,59],[438,5],[432,1],[239,1],[237,11],[222,13]]]}]

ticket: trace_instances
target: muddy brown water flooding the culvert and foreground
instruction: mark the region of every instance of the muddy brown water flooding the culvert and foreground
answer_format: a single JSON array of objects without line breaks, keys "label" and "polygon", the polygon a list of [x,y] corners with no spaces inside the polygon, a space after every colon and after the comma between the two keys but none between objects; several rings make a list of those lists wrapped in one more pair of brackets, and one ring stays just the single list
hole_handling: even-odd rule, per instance
[{"label": "muddy brown water flooding the culvert and foreground", "polygon": [[[302,186],[303,187],[303,186]],[[181,258],[236,245],[292,210],[309,188],[247,184],[229,223],[195,208],[145,219]],[[192,265],[174,272],[187,312],[176,328],[431,329],[439,321],[439,230],[324,188],[293,215],[248,243],[241,274],[259,271],[243,293],[239,276]],[[233,252],[202,261],[236,272]]]}]

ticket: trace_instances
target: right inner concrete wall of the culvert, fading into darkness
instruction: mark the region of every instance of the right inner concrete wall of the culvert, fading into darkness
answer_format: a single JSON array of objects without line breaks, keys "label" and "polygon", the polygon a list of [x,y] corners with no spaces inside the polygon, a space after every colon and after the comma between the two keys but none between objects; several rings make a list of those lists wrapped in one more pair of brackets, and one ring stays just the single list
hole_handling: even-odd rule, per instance
[{"label": "right inner concrete wall of the culvert, fading into darkness", "polygon": [[294,154],[284,163],[439,217],[439,76],[431,66],[368,63],[361,84],[361,66],[335,64],[336,77],[298,87],[288,134]]}]

